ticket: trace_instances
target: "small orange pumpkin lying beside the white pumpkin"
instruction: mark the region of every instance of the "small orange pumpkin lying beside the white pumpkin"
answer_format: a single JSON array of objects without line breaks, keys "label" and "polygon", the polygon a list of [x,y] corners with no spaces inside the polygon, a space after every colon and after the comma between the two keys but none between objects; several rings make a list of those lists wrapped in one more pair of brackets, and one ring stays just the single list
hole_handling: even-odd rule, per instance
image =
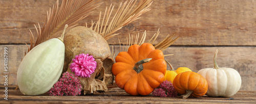
[{"label": "small orange pumpkin lying beside the white pumpkin", "polygon": [[208,89],[205,78],[195,72],[178,74],[174,79],[173,85],[178,93],[185,94],[183,98],[203,96]]}]

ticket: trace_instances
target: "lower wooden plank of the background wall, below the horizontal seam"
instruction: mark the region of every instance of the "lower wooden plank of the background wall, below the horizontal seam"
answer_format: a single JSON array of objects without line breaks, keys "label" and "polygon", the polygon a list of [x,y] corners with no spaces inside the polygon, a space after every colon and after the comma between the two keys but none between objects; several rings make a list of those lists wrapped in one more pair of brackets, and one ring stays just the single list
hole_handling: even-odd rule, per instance
[{"label": "lower wooden plank of the background wall, below the horizontal seam", "polygon": [[[0,45],[0,52],[8,47],[8,70],[9,85],[16,85],[16,73],[26,45]],[[169,47],[164,50],[164,54],[174,54],[166,56],[174,68],[185,66],[193,72],[198,72],[202,68],[214,67],[213,57],[216,49],[219,49],[217,63],[220,67],[230,67],[236,69],[242,78],[241,90],[256,91],[256,47]],[[119,46],[115,46],[116,55],[119,53]],[[0,59],[3,59],[1,54]],[[4,60],[0,60],[0,67],[3,67]],[[169,67],[168,67],[169,68]],[[4,70],[0,71],[0,76],[4,76]],[[4,79],[0,79],[0,84],[4,84]]]}]

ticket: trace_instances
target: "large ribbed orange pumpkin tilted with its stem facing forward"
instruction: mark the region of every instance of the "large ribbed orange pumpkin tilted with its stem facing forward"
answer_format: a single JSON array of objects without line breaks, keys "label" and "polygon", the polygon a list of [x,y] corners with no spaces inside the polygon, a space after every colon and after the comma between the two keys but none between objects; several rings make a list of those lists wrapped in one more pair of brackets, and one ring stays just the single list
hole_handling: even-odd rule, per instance
[{"label": "large ribbed orange pumpkin tilted with its stem facing forward", "polygon": [[152,44],[132,45],[120,52],[112,66],[116,85],[131,95],[148,95],[164,80],[166,62],[163,52]]}]

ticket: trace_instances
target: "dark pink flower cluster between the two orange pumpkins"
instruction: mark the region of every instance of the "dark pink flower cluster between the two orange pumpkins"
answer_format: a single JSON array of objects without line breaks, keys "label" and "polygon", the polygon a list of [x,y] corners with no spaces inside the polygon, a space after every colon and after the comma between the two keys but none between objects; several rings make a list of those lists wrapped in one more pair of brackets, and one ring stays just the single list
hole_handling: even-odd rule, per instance
[{"label": "dark pink flower cluster between the two orange pumpkins", "polygon": [[163,81],[152,94],[160,97],[175,97],[178,95],[178,92],[174,89],[174,86],[170,81]]}]

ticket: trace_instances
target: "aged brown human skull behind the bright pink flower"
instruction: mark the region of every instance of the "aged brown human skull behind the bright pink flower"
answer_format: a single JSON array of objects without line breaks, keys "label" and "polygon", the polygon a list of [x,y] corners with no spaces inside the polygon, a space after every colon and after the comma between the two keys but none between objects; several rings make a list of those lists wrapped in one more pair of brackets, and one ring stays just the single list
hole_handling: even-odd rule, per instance
[{"label": "aged brown human skull behind the bright pink flower", "polygon": [[[50,39],[60,37],[61,33],[62,31],[56,32]],[[66,31],[63,43],[65,44],[65,62],[62,73],[66,71],[73,73],[69,67],[73,62],[72,59],[76,55],[88,53],[95,58],[97,67],[90,78],[79,77],[84,94],[108,91],[106,85],[113,84],[114,81],[112,74],[114,61],[105,39],[90,28],[77,26]]]}]

